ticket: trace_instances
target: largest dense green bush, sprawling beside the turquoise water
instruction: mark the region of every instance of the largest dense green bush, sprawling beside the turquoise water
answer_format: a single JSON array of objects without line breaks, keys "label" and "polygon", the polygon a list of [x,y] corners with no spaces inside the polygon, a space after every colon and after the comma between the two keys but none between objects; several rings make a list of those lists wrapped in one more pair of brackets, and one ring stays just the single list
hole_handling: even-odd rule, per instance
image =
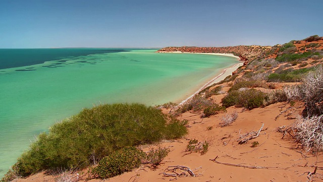
[{"label": "largest dense green bush, sprawling beside the turquoise water", "polygon": [[186,132],[182,121],[154,107],[99,105],[39,134],[13,169],[27,176],[44,169],[85,167],[124,147],[174,139]]}]

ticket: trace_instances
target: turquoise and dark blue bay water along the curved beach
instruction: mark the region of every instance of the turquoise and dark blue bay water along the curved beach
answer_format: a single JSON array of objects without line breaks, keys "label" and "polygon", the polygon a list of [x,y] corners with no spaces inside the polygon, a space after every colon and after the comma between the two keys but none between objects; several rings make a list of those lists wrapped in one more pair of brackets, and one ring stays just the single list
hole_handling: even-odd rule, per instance
[{"label": "turquoise and dark blue bay water along the curved beach", "polygon": [[11,57],[13,53],[0,50],[7,53],[0,56],[1,65],[6,64],[0,69],[0,176],[35,135],[82,108],[116,102],[179,103],[238,63],[225,56],[149,49],[30,51],[16,50],[18,56]]}]

